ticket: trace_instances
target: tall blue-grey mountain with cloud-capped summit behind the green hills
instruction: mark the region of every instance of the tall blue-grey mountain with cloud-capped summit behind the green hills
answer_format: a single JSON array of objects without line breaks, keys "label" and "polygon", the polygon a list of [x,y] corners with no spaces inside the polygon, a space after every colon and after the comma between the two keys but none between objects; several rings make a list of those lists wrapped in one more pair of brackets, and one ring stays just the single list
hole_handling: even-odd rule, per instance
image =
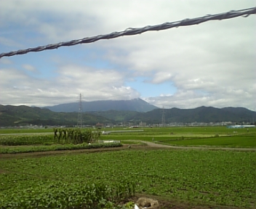
[{"label": "tall blue-grey mountain with cloud-capped summit behind the green hills", "polygon": [[[92,111],[108,111],[108,110],[129,110],[136,112],[148,112],[154,110],[156,106],[150,105],[143,99],[130,99],[130,100],[99,100],[93,102],[81,102],[83,112]],[[79,102],[68,104],[55,105],[52,107],[43,107],[54,112],[78,112]]]}]

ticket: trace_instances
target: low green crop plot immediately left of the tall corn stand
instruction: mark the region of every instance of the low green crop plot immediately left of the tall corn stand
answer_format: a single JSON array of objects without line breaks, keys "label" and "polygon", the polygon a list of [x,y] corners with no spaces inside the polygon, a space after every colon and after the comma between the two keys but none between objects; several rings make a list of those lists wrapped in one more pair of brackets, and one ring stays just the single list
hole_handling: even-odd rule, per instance
[{"label": "low green crop plot immediately left of the tall corn stand", "polygon": [[29,145],[29,144],[52,144],[52,135],[4,135],[0,136],[0,144],[8,146]]}]

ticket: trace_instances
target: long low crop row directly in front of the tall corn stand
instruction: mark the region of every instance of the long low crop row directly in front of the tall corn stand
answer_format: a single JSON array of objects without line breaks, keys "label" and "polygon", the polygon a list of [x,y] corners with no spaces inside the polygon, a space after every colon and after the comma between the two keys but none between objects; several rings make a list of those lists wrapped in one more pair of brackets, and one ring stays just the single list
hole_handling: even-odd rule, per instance
[{"label": "long low crop row directly in front of the tall corn stand", "polygon": [[52,146],[41,145],[33,147],[0,147],[0,154],[16,154],[25,152],[47,152],[57,150],[73,150],[73,149],[95,149],[108,147],[121,147],[121,143],[95,143],[95,144],[54,144]]}]

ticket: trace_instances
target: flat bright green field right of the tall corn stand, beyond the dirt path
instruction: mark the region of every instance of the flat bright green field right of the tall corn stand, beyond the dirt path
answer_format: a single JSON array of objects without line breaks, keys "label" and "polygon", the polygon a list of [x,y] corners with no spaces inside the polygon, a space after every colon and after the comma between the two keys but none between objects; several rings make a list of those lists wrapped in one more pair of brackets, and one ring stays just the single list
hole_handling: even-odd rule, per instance
[{"label": "flat bright green field right of the tall corn stand, beyond the dirt path", "polygon": [[[105,129],[105,131],[121,131],[123,128]],[[129,128],[135,131],[135,128]],[[222,126],[213,127],[165,127],[143,128],[140,132],[113,132],[103,135],[103,140],[120,140],[132,142],[132,140],[148,141],[180,145],[180,146],[218,146],[218,147],[256,147],[256,128],[232,128]],[[136,142],[135,142],[136,143]]]}]

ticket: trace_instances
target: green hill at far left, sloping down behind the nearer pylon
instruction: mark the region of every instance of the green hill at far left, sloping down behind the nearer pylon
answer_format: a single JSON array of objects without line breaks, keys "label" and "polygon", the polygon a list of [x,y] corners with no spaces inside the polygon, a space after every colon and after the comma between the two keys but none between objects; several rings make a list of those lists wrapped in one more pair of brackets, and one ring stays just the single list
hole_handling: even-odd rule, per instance
[{"label": "green hill at far left, sloping down behind the nearer pylon", "polygon": [[[114,120],[89,113],[83,113],[82,118],[84,125],[114,123]],[[0,126],[76,126],[77,120],[77,112],[52,112],[39,107],[0,105]]]}]

